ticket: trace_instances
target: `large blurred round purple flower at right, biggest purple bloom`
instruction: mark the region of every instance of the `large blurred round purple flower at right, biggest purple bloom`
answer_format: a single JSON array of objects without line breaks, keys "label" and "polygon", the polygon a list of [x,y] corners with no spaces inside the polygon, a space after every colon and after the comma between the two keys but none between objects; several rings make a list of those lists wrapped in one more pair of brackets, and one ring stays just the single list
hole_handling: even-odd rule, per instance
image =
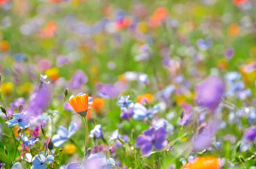
[{"label": "large blurred round purple flower at right, biggest purple bloom", "polygon": [[195,87],[197,98],[195,99],[198,106],[207,107],[214,110],[218,107],[225,93],[225,84],[221,77],[208,77]]}]

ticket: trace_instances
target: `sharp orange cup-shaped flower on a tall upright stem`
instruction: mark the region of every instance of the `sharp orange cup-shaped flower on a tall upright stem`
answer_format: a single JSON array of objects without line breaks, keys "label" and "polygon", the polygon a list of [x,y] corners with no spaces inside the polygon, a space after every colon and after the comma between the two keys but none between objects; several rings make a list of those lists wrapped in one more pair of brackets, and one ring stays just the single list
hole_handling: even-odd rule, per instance
[{"label": "sharp orange cup-shaped flower on a tall upright stem", "polygon": [[73,107],[73,109],[81,116],[85,117],[87,115],[88,110],[91,108],[88,105],[88,94],[82,96],[76,96],[70,98],[68,103]]}]

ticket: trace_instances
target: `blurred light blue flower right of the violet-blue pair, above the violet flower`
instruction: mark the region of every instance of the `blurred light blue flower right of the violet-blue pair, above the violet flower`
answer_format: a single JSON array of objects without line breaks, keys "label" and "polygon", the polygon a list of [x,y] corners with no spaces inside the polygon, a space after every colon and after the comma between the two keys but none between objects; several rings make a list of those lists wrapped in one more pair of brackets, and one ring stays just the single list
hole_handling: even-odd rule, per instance
[{"label": "blurred light blue flower right of the violet-blue pair, above the violet flower", "polygon": [[154,106],[153,109],[148,109],[140,103],[135,103],[134,105],[134,120],[143,120],[144,118],[151,119],[154,114],[159,112],[160,106]]}]

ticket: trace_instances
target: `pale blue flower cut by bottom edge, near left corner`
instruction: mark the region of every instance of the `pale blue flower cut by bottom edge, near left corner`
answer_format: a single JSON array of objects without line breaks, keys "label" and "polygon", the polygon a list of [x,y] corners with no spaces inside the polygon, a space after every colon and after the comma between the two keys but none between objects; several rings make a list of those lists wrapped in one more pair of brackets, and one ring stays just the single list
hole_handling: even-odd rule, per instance
[{"label": "pale blue flower cut by bottom edge, near left corner", "polygon": [[47,169],[47,163],[51,164],[54,161],[53,155],[46,157],[46,152],[40,152],[32,159],[32,166],[30,169]]}]

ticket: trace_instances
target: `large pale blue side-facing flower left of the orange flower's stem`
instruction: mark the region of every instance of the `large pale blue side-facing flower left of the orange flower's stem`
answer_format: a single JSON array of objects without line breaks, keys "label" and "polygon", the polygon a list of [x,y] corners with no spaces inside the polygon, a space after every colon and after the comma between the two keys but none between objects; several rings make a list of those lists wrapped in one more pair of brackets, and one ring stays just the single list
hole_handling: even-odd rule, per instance
[{"label": "large pale blue side-facing flower left of the orange flower's stem", "polygon": [[52,137],[52,143],[55,147],[62,146],[67,140],[69,140],[76,133],[76,123],[71,122],[67,130],[64,126],[59,126],[57,135]]}]

